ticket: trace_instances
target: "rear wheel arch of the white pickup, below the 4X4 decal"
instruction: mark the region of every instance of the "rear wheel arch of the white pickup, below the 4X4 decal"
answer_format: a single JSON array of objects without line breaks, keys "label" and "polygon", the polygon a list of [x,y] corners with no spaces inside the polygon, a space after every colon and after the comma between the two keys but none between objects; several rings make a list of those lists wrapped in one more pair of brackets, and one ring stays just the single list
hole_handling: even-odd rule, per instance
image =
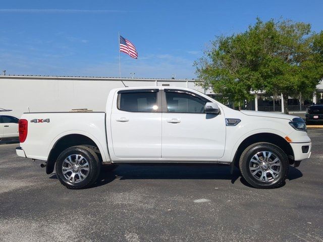
[{"label": "rear wheel arch of the white pickup, below the 4X4 decal", "polygon": [[53,140],[49,146],[46,173],[50,174],[51,172],[53,172],[56,160],[63,150],[78,145],[88,146],[89,148],[92,148],[95,153],[97,153],[101,162],[107,160],[102,146],[90,134],[87,134],[85,132],[63,133],[60,136],[56,137],[56,139]]}]

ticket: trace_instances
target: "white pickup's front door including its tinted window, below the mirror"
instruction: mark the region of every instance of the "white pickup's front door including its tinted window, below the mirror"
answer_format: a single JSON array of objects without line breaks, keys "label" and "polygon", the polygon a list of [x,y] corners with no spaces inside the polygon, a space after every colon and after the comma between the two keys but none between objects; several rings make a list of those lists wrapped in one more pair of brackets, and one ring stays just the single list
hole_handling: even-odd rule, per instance
[{"label": "white pickup's front door including its tinted window, below the mirror", "polygon": [[[204,113],[206,98],[185,90],[165,89],[161,157],[181,160],[216,160],[226,142],[225,117]],[[166,103],[165,103],[166,102]]]}]

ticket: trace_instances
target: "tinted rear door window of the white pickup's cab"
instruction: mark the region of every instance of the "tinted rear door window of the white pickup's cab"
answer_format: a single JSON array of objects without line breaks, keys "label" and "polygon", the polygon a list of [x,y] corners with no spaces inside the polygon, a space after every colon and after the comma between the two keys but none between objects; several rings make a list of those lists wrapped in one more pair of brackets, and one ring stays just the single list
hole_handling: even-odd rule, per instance
[{"label": "tinted rear door window of the white pickup's cab", "polygon": [[157,89],[120,91],[118,109],[128,112],[156,112],[157,92]]}]

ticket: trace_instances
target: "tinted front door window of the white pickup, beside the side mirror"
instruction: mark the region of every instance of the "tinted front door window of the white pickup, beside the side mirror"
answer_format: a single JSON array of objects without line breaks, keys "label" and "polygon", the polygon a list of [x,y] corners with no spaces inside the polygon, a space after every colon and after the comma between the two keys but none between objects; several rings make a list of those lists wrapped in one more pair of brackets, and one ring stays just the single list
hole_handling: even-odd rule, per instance
[{"label": "tinted front door window of the white pickup, beside the side mirror", "polygon": [[203,113],[206,99],[186,92],[165,92],[168,112]]}]

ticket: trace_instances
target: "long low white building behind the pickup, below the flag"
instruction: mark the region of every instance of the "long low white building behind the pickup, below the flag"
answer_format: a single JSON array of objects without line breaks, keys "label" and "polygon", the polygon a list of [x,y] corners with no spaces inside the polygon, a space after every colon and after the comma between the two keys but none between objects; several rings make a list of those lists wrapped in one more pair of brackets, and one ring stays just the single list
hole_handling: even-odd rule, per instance
[{"label": "long low white building behind the pickup, below the flag", "polygon": [[[87,108],[104,111],[109,91],[124,87],[188,87],[204,93],[195,80],[127,79],[101,77],[0,76],[0,107],[12,109],[8,115],[23,112],[70,111]],[[209,91],[206,94],[211,94]]]}]

